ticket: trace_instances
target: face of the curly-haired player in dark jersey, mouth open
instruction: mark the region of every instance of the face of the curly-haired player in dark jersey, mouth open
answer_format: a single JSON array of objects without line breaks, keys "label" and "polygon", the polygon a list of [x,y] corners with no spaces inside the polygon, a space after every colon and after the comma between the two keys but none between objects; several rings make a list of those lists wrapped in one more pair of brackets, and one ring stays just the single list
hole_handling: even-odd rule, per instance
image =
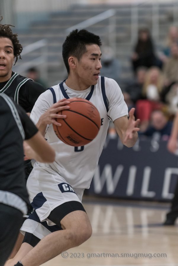
[{"label": "face of the curly-haired player in dark jersey, mouth open", "polygon": [[9,38],[0,37],[0,82],[9,80],[12,75],[14,48]]}]

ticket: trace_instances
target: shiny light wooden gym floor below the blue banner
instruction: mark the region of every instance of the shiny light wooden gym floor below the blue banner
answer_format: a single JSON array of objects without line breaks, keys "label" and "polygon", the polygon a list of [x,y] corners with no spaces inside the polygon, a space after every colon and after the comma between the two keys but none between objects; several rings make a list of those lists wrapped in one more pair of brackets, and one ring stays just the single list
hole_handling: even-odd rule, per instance
[{"label": "shiny light wooden gym floor below the blue banner", "polygon": [[162,226],[170,203],[84,197],[93,234],[44,266],[178,266],[178,224]]}]

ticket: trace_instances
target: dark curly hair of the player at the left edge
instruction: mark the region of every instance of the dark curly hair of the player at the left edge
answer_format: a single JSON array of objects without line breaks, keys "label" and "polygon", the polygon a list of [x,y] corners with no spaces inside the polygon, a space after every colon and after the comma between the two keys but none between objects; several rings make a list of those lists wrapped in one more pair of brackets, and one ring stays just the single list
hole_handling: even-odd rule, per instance
[{"label": "dark curly hair of the player at the left edge", "polygon": [[[2,17],[1,17],[1,20],[2,20]],[[19,43],[19,40],[17,39],[17,36],[18,36],[17,33],[13,34],[9,26],[12,26],[12,25],[0,24],[0,38],[3,38],[3,37],[9,38],[12,41],[12,44],[14,47],[14,56],[16,58],[15,63],[16,63],[18,60],[18,56],[21,59],[20,53],[22,52],[23,48],[22,48],[22,45]]]}]

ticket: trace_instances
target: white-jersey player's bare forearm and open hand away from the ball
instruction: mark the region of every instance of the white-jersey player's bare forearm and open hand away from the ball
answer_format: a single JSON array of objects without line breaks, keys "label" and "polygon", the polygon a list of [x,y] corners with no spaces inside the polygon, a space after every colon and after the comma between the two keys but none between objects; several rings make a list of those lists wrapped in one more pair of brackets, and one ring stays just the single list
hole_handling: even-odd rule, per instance
[{"label": "white-jersey player's bare forearm and open hand away from the ball", "polygon": [[139,119],[135,120],[134,117],[135,108],[129,111],[129,119],[127,116],[122,116],[114,121],[116,131],[122,141],[127,147],[134,146],[138,138],[139,131]]}]

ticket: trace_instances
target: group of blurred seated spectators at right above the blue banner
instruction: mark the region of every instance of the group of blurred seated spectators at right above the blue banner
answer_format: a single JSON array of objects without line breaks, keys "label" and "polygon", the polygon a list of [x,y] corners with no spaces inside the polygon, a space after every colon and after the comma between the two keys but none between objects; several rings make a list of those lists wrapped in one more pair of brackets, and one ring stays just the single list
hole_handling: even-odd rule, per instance
[{"label": "group of blurred seated spectators at right above the blue banner", "polygon": [[139,29],[130,57],[134,77],[122,90],[128,108],[136,109],[140,134],[169,136],[178,111],[178,28],[169,27],[162,49],[154,43],[148,28]]}]

